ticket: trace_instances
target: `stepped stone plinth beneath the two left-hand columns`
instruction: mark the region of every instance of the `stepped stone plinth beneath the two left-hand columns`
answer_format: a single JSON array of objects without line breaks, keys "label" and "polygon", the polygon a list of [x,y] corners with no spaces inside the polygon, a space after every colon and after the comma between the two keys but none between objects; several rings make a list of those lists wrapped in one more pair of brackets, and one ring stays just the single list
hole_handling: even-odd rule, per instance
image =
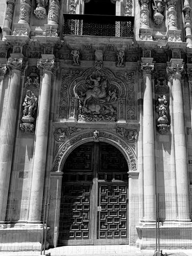
[{"label": "stepped stone plinth beneath the two left-hand columns", "polygon": [[42,229],[42,224],[0,225],[1,251],[40,250]]}]

